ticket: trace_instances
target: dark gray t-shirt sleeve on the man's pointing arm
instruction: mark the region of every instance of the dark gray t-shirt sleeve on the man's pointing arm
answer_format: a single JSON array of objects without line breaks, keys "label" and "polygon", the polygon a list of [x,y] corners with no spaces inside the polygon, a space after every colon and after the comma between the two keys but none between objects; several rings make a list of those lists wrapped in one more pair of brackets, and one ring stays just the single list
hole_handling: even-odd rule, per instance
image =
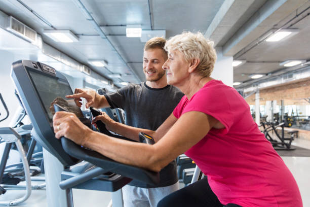
[{"label": "dark gray t-shirt sleeve on the man's pointing arm", "polygon": [[124,109],[126,91],[128,91],[129,89],[130,88],[128,86],[125,86],[123,88],[118,89],[115,92],[104,94],[104,97],[106,98],[106,100],[108,101],[112,109],[115,109],[115,108]]}]

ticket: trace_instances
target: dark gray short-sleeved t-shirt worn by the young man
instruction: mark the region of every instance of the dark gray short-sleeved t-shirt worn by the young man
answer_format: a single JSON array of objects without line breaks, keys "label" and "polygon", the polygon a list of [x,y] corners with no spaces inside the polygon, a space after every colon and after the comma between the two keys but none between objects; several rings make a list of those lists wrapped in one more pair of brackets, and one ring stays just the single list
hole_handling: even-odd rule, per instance
[{"label": "dark gray short-sleeved t-shirt worn by the young man", "polygon": [[[125,111],[126,125],[156,130],[170,116],[183,95],[174,86],[150,88],[142,82],[139,85],[129,84],[104,96],[111,108],[121,108]],[[178,181],[175,160],[160,171],[160,179],[156,186],[135,180],[129,185],[154,188],[175,184]]]}]

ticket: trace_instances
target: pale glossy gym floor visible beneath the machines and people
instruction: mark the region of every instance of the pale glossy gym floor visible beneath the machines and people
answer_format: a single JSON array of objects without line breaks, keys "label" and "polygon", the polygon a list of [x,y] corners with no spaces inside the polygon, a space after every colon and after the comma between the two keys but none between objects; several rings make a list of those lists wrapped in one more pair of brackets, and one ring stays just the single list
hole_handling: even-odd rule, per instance
[{"label": "pale glossy gym floor visible beneath the machines and people", "polygon": [[[310,150],[310,141],[296,139],[292,145],[307,148]],[[288,168],[291,170],[300,189],[303,206],[310,206],[310,157],[282,157]],[[21,183],[22,185],[22,183]],[[180,184],[180,187],[183,187]],[[6,194],[0,196],[0,201],[22,197],[24,190],[8,190]],[[73,189],[74,207],[108,206],[111,193],[92,190]],[[87,198],[87,199],[85,199]],[[42,207],[48,206],[45,190],[32,190],[30,197],[18,206]]]}]

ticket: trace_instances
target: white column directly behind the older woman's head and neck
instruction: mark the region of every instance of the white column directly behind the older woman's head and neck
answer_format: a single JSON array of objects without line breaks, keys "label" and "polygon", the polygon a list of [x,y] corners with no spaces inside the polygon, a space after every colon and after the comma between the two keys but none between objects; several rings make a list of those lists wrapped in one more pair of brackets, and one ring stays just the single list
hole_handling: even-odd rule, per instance
[{"label": "white column directly behind the older woman's head and neck", "polygon": [[232,87],[234,81],[234,70],[232,68],[232,56],[223,56],[222,48],[215,48],[217,60],[214,65],[214,70],[211,77],[222,81],[227,86]]}]

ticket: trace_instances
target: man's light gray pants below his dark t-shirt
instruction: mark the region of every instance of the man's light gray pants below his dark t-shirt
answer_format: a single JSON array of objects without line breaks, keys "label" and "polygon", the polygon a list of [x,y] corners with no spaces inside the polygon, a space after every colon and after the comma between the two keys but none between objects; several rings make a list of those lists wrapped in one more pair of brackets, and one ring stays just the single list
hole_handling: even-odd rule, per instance
[{"label": "man's light gray pants below his dark t-shirt", "polygon": [[179,190],[179,182],[160,188],[139,188],[126,185],[122,190],[124,207],[156,207],[161,199]]}]

